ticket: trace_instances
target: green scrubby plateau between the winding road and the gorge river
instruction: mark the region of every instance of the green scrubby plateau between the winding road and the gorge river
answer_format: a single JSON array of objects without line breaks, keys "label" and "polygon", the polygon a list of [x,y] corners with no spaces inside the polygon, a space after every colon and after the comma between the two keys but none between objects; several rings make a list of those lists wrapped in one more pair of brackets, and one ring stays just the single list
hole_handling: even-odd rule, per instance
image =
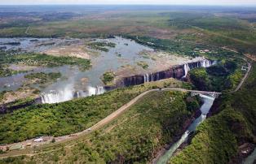
[{"label": "green scrubby plateau between the winding road and the gorge river", "polygon": [[50,153],[44,153],[34,158],[12,160],[71,163],[150,162],[163,145],[176,140],[183,132],[180,127],[188,119],[192,119],[195,110],[188,110],[186,102],[191,98],[188,95],[181,92],[149,93],[120,118],[77,140],[72,148],[67,146],[56,149],[53,152],[55,158]]}]

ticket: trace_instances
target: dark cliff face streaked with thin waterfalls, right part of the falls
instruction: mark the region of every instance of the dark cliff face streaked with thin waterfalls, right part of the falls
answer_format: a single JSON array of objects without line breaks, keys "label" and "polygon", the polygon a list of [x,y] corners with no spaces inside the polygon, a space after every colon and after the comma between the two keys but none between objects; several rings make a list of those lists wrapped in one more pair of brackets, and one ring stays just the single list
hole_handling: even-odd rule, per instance
[{"label": "dark cliff face streaked with thin waterfalls, right part of the falls", "polygon": [[175,79],[183,79],[189,70],[196,67],[210,67],[214,62],[204,59],[201,61],[197,61],[194,63],[186,63],[184,65],[170,67],[165,71],[153,72],[145,75],[136,75],[125,77],[122,80],[117,81],[116,87],[127,87],[132,85],[143,84],[145,82],[175,78]]}]

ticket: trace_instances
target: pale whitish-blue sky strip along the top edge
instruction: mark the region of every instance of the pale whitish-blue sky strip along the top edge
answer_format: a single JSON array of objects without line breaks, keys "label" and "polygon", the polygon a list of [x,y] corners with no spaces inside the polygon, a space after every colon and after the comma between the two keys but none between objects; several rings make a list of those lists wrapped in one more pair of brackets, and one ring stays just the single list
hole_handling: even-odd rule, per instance
[{"label": "pale whitish-blue sky strip along the top edge", "polygon": [[0,0],[0,4],[170,4],[256,6],[256,0]]}]

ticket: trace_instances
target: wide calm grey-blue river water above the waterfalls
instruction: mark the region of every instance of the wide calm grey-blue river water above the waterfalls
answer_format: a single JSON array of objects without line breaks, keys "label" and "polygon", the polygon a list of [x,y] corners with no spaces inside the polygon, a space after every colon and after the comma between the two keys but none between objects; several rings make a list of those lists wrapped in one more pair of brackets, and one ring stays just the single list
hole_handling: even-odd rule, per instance
[{"label": "wide calm grey-blue river water above the waterfalls", "polygon": [[[33,39],[37,39],[38,41],[31,41]],[[55,42],[55,45],[64,45],[69,44],[70,41],[77,40],[61,40],[61,39],[38,39],[38,38],[2,38],[0,39],[0,43],[7,42],[15,42],[20,41],[20,45],[5,45],[7,49],[21,49],[26,51],[37,51],[41,52],[43,50],[47,50],[51,48],[52,45],[42,45],[38,46],[42,43]],[[96,40],[96,41],[110,41],[116,44],[114,48],[108,48],[108,52],[101,52],[99,56],[95,56],[91,58],[91,62],[93,66],[88,71],[80,71],[78,67],[71,66],[62,66],[62,67],[38,67],[33,71],[29,71],[27,73],[20,73],[14,76],[0,78],[0,91],[3,90],[16,90],[20,88],[22,84],[26,81],[24,75],[29,74],[31,72],[58,72],[63,75],[63,78],[57,80],[54,84],[48,85],[46,88],[40,88],[39,85],[33,85],[40,89],[44,93],[48,93],[51,90],[63,90],[68,87],[73,89],[73,91],[83,90],[85,91],[88,86],[101,86],[103,85],[100,77],[104,74],[105,71],[117,71],[118,68],[124,66],[126,64],[136,65],[138,61],[145,61],[148,63],[149,67],[152,67],[153,61],[148,58],[142,58],[139,55],[139,52],[142,50],[152,50],[144,45],[139,45],[135,41],[130,41],[128,39],[124,39],[121,37],[104,39],[104,40]],[[77,41],[79,42],[79,41]],[[121,57],[118,57],[118,54],[121,54]],[[86,78],[86,85],[82,84],[82,78]]]}]

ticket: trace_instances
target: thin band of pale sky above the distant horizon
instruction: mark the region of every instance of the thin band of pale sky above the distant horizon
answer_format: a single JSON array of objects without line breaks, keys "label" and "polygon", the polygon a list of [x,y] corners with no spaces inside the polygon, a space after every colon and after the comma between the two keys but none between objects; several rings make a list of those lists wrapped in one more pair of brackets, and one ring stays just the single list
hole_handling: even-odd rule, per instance
[{"label": "thin band of pale sky above the distant horizon", "polygon": [[0,0],[0,6],[39,6],[39,5],[138,5],[138,6],[256,6],[254,0]]}]

